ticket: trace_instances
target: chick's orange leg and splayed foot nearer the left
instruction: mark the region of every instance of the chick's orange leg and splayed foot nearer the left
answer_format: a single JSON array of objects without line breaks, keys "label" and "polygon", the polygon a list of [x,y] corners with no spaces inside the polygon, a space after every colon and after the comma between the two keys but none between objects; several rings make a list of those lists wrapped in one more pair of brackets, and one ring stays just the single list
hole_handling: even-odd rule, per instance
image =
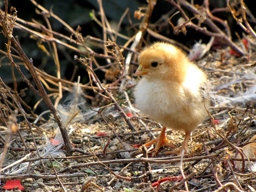
[{"label": "chick's orange leg and splayed foot nearer the left", "polygon": [[165,136],[165,130],[166,127],[163,127],[161,133],[158,135],[158,137],[156,139],[153,139],[147,143],[144,144],[144,146],[148,147],[151,146],[153,144],[156,145],[155,147],[155,152],[153,153],[153,156],[156,155],[156,153],[158,152],[158,150],[163,147],[163,146],[167,146],[167,147],[172,147],[172,148],[176,148],[172,143],[170,143],[170,141],[166,138]]}]

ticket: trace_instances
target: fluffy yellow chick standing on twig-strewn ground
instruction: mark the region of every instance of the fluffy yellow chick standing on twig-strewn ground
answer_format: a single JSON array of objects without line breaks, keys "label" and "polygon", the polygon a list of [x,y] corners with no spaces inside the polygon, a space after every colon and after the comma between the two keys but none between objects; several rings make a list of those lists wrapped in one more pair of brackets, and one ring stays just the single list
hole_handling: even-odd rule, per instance
[{"label": "fluffy yellow chick standing on twig-strewn ground", "polygon": [[155,43],[139,56],[139,68],[135,76],[143,76],[135,87],[134,97],[138,108],[163,124],[159,136],[146,143],[155,143],[155,155],[162,146],[173,147],[165,136],[166,127],[184,131],[185,139],[180,149],[165,154],[180,154],[188,151],[190,134],[200,124],[207,112],[209,102],[204,94],[206,76],[190,62],[178,47],[168,43]]}]

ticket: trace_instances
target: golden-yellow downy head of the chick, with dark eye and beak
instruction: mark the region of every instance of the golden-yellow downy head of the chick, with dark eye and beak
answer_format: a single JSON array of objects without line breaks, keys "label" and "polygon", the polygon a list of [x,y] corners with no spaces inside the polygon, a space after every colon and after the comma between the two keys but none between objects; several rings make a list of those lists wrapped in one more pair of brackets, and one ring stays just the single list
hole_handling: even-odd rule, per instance
[{"label": "golden-yellow downy head of the chick, with dark eye and beak", "polygon": [[182,81],[186,75],[187,63],[189,61],[185,53],[179,48],[158,42],[141,52],[135,76],[173,78],[175,81]]}]

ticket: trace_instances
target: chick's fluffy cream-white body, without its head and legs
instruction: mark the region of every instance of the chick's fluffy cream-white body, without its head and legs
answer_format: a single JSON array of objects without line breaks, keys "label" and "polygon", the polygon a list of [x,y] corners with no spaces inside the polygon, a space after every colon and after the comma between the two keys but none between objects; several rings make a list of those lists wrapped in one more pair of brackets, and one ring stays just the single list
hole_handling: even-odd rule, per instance
[{"label": "chick's fluffy cream-white body, without its head and legs", "polygon": [[[189,123],[189,119],[203,121],[206,111],[200,90],[204,75],[195,66],[189,67],[188,71],[182,85],[142,78],[134,91],[135,102],[142,113],[165,126],[171,126],[173,119],[182,123]],[[184,107],[187,113],[184,113]]]}]

